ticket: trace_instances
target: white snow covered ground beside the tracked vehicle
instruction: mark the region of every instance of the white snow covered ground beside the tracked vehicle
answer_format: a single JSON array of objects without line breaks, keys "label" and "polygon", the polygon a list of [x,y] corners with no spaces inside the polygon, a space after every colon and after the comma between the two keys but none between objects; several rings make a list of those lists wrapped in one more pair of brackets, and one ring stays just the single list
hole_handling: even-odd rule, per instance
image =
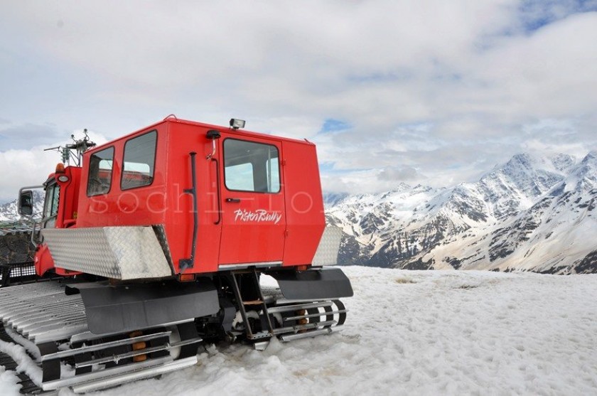
[{"label": "white snow covered ground beside the tracked vehicle", "polygon": [[[345,272],[341,333],[208,346],[193,368],[93,395],[597,394],[597,274]],[[0,395],[14,382],[0,373]]]}]

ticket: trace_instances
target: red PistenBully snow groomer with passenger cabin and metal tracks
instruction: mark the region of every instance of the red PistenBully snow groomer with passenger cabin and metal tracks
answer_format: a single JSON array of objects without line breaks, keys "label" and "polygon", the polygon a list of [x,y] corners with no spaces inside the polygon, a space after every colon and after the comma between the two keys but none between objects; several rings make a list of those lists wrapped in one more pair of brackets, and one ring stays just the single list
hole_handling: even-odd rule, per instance
[{"label": "red PistenBully snow groomer with passenger cabin and metal tracks", "polygon": [[[259,348],[344,323],[338,299],[353,290],[323,267],[340,232],[326,228],[315,145],[243,127],[170,116],[60,148],[67,166],[43,183],[40,280],[0,289],[6,330],[39,348],[43,390],[178,370],[203,342]],[[21,189],[22,215],[33,215],[32,189]]]}]

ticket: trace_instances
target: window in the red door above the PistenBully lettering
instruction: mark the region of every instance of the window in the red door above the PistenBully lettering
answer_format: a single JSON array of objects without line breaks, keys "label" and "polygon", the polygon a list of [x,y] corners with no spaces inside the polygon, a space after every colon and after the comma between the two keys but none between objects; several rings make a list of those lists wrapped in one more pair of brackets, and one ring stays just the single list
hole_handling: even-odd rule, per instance
[{"label": "window in the red door above the PistenBully lettering", "polygon": [[224,141],[224,181],[228,190],[279,193],[279,153],[271,144]]}]

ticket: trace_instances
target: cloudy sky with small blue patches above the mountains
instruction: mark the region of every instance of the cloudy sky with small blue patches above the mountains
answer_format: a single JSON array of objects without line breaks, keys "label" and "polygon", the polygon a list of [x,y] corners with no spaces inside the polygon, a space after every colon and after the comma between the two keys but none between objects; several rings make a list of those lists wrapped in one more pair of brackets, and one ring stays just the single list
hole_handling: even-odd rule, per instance
[{"label": "cloudy sky with small blue patches above the mountains", "polygon": [[168,114],[313,141],[326,192],[597,149],[597,0],[0,5],[0,203]]}]

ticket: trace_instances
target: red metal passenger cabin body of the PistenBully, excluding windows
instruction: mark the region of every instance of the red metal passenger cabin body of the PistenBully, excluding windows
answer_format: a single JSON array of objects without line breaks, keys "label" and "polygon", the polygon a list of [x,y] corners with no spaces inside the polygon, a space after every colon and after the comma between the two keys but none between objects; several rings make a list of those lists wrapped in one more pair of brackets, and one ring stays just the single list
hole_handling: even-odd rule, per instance
[{"label": "red metal passenger cabin body of the PistenBully, excluding windows", "polygon": [[[214,129],[221,135],[215,140],[215,154],[213,141],[206,136]],[[154,179],[149,186],[122,190],[125,144],[151,131],[157,133]],[[227,139],[274,146],[279,154],[279,191],[229,189],[224,164]],[[109,191],[89,197],[90,158],[108,147],[114,149]],[[198,234],[194,266],[184,273],[216,272],[227,269],[227,264],[311,264],[325,227],[315,146],[173,118],[87,151],[77,177],[78,197],[68,198],[64,207],[66,218],[76,213],[76,224],[60,227],[163,225],[174,272],[181,273],[180,261],[190,257],[193,242],[193,197],[188,193],[193,186],[192,152],[196,153]]]}]

